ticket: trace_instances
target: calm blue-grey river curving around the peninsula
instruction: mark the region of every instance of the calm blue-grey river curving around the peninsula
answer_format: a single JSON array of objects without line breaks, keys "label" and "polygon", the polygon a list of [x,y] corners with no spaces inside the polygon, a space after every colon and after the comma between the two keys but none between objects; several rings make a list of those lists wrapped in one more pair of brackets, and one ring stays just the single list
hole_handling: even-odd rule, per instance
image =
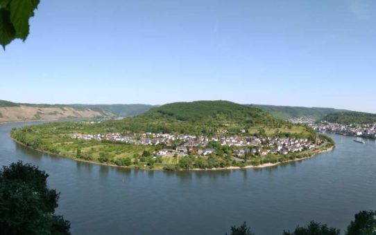
[{"label": "calm blue-grey river curving around the peninsula", "polygon": [[57,214],[72,234],[225,234],[247,221],[257,234],[310,220],[345,229],[355,213],[376,209],[376,143],[332,135],[336,149],[264,169],[137,171],[38,153],[0,125],[0,164],[31,162],[61,192]]}]

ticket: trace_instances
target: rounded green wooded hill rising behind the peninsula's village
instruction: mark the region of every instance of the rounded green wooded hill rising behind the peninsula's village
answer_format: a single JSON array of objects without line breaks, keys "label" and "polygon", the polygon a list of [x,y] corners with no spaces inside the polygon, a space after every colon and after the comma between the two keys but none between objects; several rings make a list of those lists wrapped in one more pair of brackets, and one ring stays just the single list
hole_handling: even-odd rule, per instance
[{"label": "rounded green wooded hill rising behind the peninsula's village", "polygon": [[186,133],[194,135],[237,135],[246,133],[290,133],[311,136],[312,131],[274,118],[261,109],[228,101],[177,102],[155,107],[142,115],[119,121],[102,122],[91,132]]}]

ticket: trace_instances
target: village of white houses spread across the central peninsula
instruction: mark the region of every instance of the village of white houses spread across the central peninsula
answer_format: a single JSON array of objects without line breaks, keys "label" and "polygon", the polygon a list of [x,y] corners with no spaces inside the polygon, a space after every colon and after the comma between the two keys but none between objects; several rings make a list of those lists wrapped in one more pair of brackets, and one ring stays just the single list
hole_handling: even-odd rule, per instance
[{"label": "village of white houses spread across the central peninsula", "polygon": [[[132,135],[121,135],[121,133],[76,133],[71,135],[71,138],[82,140],[108,140],[141,145],[162,144],[166,149],[157,151],[158,156],[186,156],[188,154],[207,156],[215,152],[214,149],[207,148],[210,142],[220,143],[221,146],[235,147],[235,149],[237,149],[236,156],[244,156],[246,153],[262,156],[268,153],[287,154],[316,149],[314,142],[308,139],[258,138],[256,136],[209,138],[205,135],[173,135],[169,133],[133,133]],[[172,148],[173,146],[175,146],[175,148]]]}]

